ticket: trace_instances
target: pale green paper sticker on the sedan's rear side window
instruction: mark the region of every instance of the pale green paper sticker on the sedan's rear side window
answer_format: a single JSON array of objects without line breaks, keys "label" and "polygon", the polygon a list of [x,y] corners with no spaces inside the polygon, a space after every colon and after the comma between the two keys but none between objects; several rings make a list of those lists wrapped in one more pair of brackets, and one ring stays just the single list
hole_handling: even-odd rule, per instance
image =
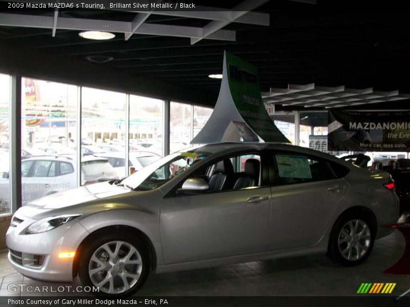
[{"label": "pale green paper sticker on the sedan's rear side window", "polygon": [[312,178],[308,157],[276,155],[279,177]]}]

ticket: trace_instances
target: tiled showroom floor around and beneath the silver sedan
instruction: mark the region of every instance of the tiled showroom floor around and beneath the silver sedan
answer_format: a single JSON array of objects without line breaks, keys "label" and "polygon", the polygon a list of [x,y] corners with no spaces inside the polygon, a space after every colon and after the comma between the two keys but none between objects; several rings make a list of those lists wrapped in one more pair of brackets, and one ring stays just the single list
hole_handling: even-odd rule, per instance
[{"label": "tiled showroom floor around and beneath the silver sedan", "polygon": [[[204,270],[172,274],[152,274],[136,294],[143,296],[351,296],[362,282],[396,282],[392,295],[410,288],[410,276],[386,275],[382,272],[401,257],[405,241],[399,231],[377,240],[370,258],[362,265],[346,268],[333,264],[325,255],[248,262]],[[0,296],[5,295],[81,295],[76,292],[9,292],[10,284],[53,286],[23,277],[10,268],[6,253],[0,254],[2,274]],[[74,281],[74,286],[79,285]],[[67,284],[66,286],[73,286]]]}]

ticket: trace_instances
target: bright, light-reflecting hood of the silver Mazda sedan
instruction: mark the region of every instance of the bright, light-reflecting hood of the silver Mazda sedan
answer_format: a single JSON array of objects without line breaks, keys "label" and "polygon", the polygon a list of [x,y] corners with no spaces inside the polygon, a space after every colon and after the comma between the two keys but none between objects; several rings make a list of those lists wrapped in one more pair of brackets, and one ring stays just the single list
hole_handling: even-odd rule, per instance
[{"label": "bright, light-reflecting hood of the silver Mazda sedan", "polygon": [[129,189],[111,185],[108,182],[101,182],[54,193],[34,200],[18,209],[18,214],[35,218],[37,214],[46,213],[51,210],[58,212],[58,209],[74,207],[84,203],[95,203],[100,199],[107,199],[129,192]]}]

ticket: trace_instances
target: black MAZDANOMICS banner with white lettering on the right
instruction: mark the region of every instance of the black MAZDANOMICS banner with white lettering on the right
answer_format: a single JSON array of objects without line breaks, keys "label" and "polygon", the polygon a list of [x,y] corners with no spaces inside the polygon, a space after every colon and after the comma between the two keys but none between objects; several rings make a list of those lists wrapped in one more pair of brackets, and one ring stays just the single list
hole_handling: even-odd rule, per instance
[{"label": "black MAZDANOMICS banner with white lettering on the right", "polygon": [[409,151],[410,112],[329,112],[329,151]]}]

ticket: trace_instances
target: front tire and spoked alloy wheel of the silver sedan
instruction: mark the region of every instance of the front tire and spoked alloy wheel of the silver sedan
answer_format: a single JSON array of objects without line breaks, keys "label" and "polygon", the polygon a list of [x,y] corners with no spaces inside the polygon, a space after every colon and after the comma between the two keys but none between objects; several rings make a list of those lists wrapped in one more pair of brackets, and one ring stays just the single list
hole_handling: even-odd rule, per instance
[{"label": "front tire and spoked alloy wheel of the silver sedan", "polygon": [[145,283],[149,257],[142,242],[126,233],[101,235],[80,255],[79,278],[83,286],[98,287],[98,296],[128,296]]}]

